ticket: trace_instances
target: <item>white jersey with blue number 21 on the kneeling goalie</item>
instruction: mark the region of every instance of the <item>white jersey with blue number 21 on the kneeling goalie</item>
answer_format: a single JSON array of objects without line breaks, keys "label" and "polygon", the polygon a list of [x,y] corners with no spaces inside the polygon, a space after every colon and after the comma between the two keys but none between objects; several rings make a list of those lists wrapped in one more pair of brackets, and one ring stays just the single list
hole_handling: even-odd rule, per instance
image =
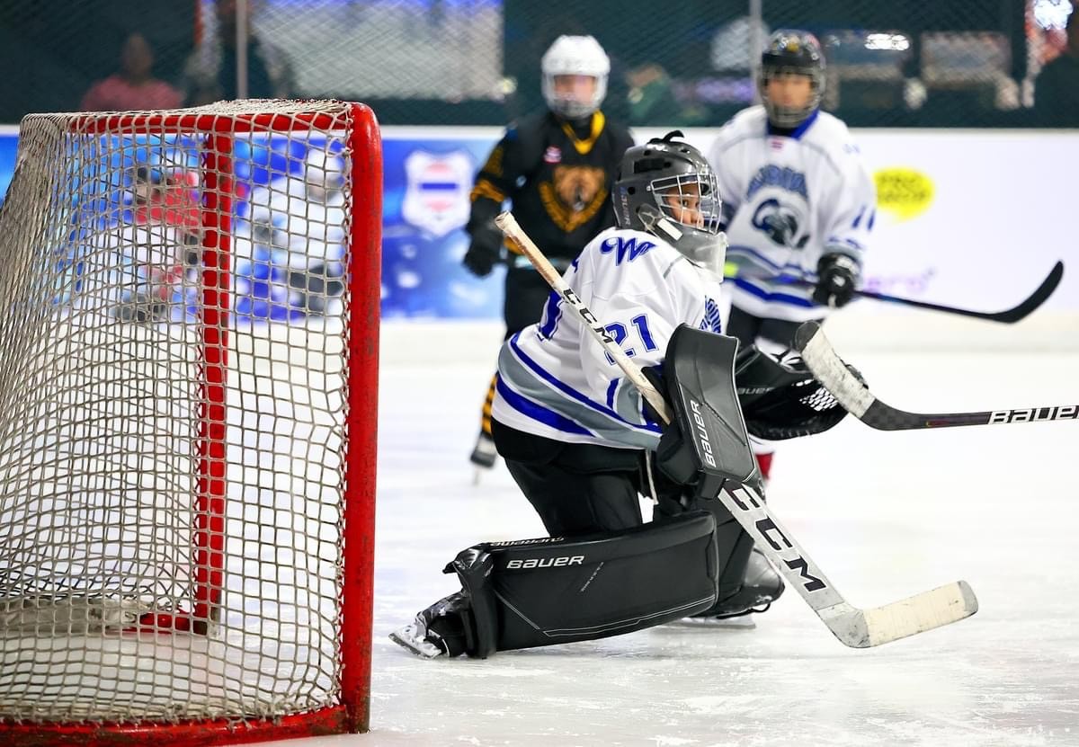
[{"label": "white jersey with blue number 21 on the kneeling goalie", "polygon": [[[720,279],[651,233],[600,233],[564,279],[639,366],[663,361],[680,324],[720,331]],[[643,417],[640,393],[557,294],[537,324],[503,344],[492,416],[576,444],[654,449],[660,434]]]}]

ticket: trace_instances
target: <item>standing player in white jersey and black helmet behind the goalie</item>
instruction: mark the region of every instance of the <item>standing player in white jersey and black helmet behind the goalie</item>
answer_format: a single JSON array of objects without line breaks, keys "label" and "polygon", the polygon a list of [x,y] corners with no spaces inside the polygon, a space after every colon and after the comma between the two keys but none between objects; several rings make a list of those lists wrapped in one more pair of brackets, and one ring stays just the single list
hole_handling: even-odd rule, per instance
[{"label": "standing player in white jersey and black helmet behind the goalie", "polygon": [[[779,352],[794,330],[853,297],[876,190],[847,126],[820,110],[824,57],[805,31],[776,31],[762,56],[763,106],[736,114],[709,153],[737,266],[726,334]],[[755,443],[765,478],[773,449]]]}]

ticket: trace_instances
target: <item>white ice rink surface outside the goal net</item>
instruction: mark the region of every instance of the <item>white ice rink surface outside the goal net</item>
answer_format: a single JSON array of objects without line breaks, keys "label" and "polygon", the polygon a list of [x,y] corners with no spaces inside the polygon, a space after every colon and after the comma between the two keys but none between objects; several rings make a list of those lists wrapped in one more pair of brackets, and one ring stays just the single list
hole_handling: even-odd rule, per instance
[{"label": "white ice rink surface outside the goal net", "polygon": [[[1079,403],[1079,322],[1057,331],[1036,350],[833,341],[882,400],[955,412]],[[385,325],[383,349],[400,334]],[[848,601],[965,579],[981,609],[950,627],[846,649],[788,589],[755,629],[424,661],[386,636],[459,588],[446,562],[544,532],[501,463],[473,485],[498,331],[410,334],[441,358],[383,357],[371,732],[281,744],[1079,745],[1079,422],[885,433],[848,418],[780,446],[770,505]]]}]

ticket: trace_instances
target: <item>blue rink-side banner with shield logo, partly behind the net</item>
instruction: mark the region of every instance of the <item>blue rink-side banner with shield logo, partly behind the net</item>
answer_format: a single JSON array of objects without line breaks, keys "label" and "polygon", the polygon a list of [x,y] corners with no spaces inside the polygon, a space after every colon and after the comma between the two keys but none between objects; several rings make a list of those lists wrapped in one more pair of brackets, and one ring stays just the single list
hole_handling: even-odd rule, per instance
[{"label": "blue rink-side banner with shield logo, partly behind the net", "polygon": [[[405,133],[383,144],[385,190],[383,195],[382,313],[384,317],[416,318],[497,318],[501,316],[505,271],[496,269],[486,279],[477,279],[461,264],[468,248],[464,226],[468,220],[469,192],[482,160],[497,137],[494,128],[477,128],[475,135],[432,137],[431,132]],[[0,189],[6,193],[15,166],[17,127],[0,130]],[[316,149],[326,144],[306,144]],[[145,153],[161,150],[162,158]],[[329,146],[332,152],[336,146]],[[299,177],[305,145],[283,138],[236,141],[236,194],[234,212],[237,230],[243,233],[251,219],[248,196],[265,189],[273,175]],[[293,152],[295,151],[295,152]],[[105,152],[105,149],[103,149]],[[154,160],[166,160],[185,172],[196,169],[193,142],[132,142],[108,149],[117,161],[110,173],[117,184],[95,191],[95,223],[141,225],[129,202],[128,172]],[[86,208],[85,205],[82,206]],[[87,227],[104,230],[106,226]],[[68,247],[67,263],[78,273],[80,247],[84,237],[74,236]],[[241,244],[242,246],[243,244]],[[242,317],[288,321],[302,318],[303,309],[290,299],[290,270],[274,253],[256,244],[238,252],[233,281],[237,301],[233,309]],[[176,298],[174,301],[180,301]],[[186,298],[189,304],[193,298]],[[180,307],[183,303],[179,304]],[[188,313],[191,313],[188,309]],[[182,312],[181,312],[182,313]]]}]

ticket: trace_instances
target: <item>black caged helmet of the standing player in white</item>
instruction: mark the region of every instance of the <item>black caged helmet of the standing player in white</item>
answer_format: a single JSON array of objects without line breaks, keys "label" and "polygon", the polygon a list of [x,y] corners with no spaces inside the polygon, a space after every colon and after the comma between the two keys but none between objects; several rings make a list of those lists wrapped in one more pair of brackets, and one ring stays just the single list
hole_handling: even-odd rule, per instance
[{"label": "black caged helmet of the standing player in white", "polygon": [[[809,78],[812,93],[805,106],[779,106],[768,98],[768,81],[782,73]],[[824,95],[824,54],[817,37],[808,31],[793,29],[780,29],[773,33],[761,55],[756,86],[773,126],[793,128],[809,119],[820,107],[820,99]]]}]

